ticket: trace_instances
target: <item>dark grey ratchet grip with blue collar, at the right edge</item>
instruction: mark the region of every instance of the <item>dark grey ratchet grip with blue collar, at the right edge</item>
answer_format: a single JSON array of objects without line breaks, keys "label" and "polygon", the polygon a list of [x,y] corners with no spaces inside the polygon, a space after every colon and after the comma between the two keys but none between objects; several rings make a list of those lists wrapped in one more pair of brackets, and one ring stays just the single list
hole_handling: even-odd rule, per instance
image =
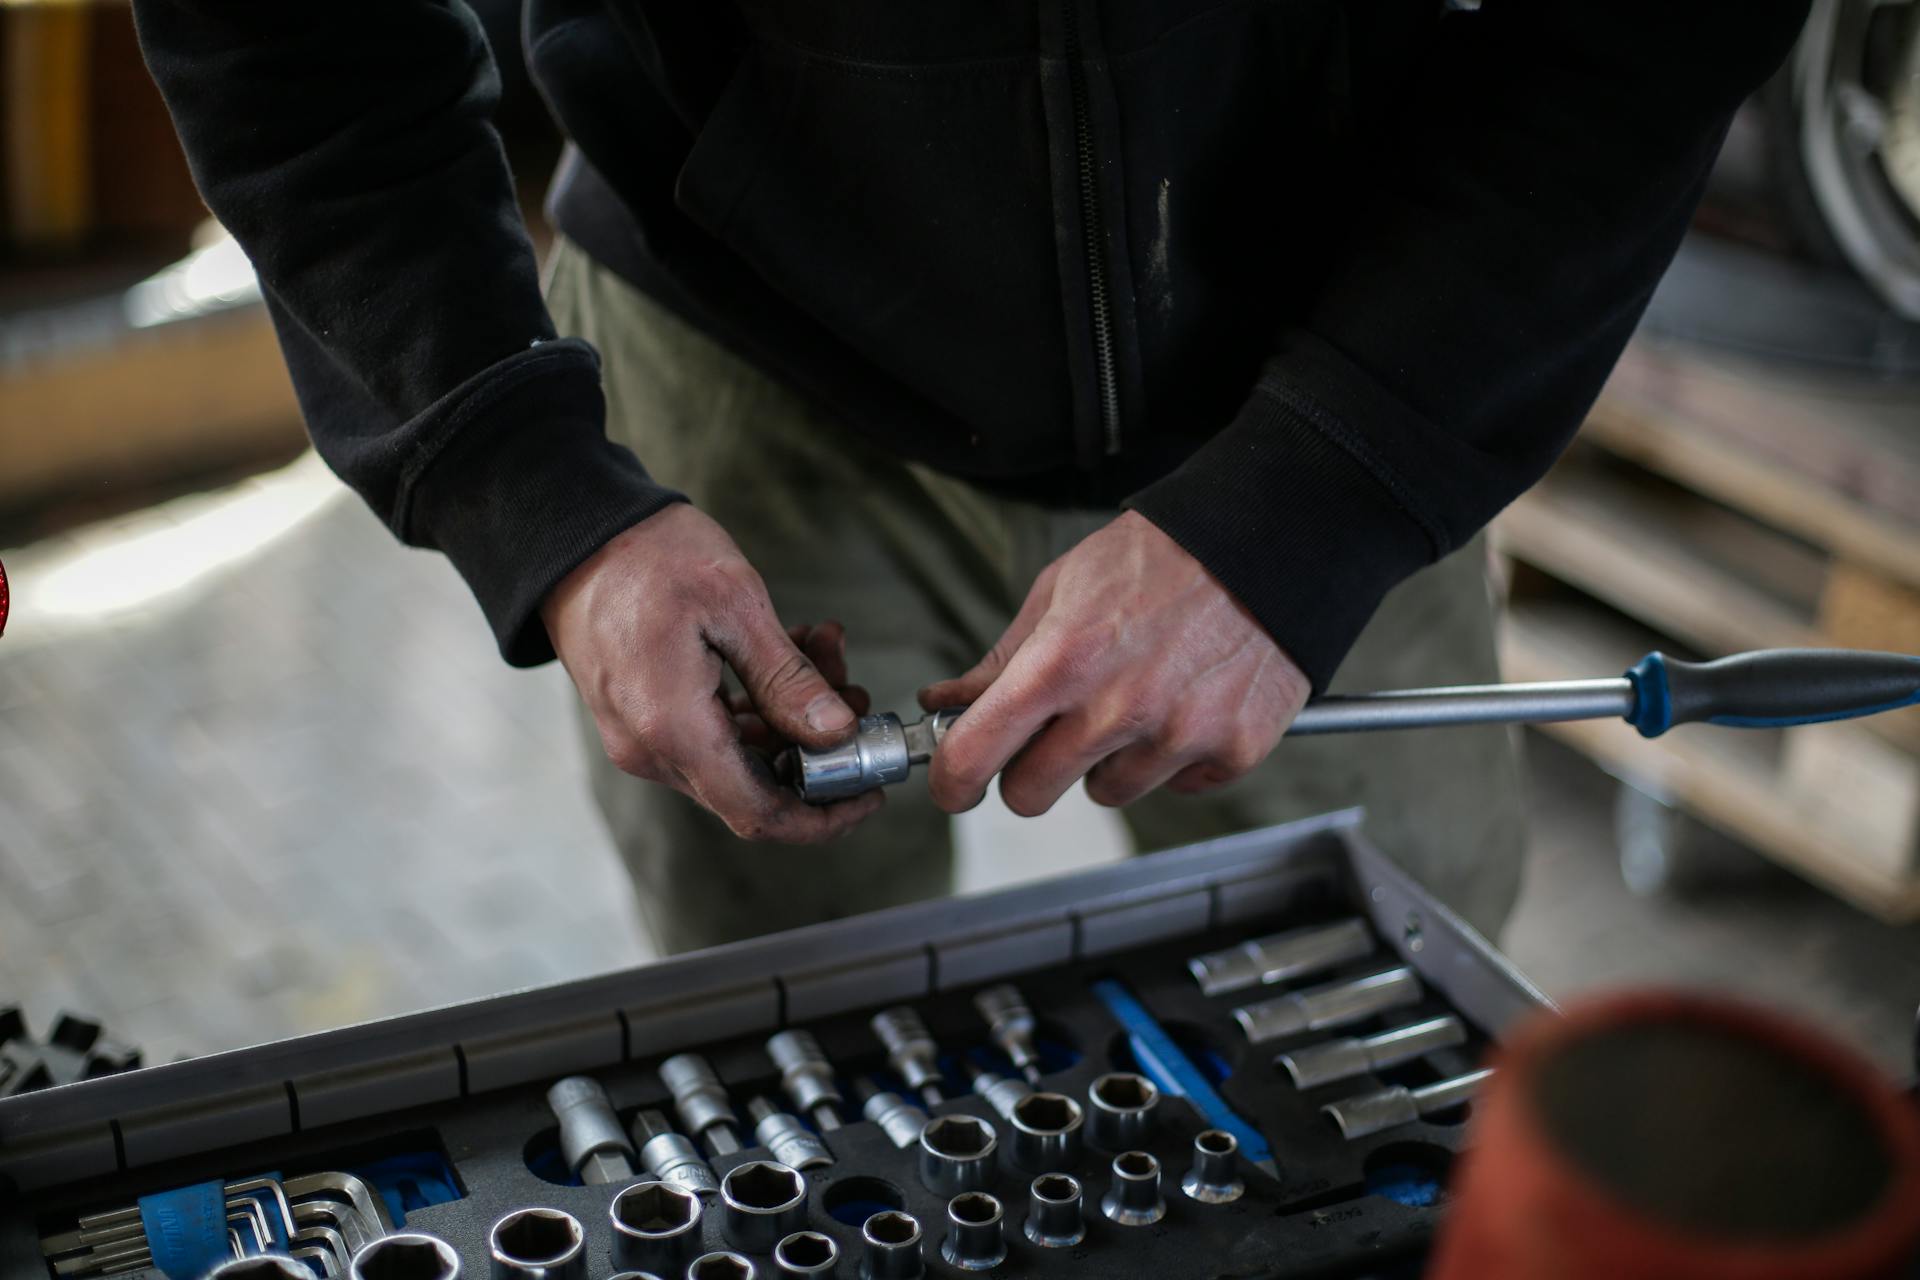
[{"label": "dark grey ratchet grip with blue collar, at the right edge", "polygon": [[1626,672],[1642,737],[1680,723],[1786,729],[1920,702],[1920,658],[1859,649],[1759,649],[1715,662],[1649,652]]}]

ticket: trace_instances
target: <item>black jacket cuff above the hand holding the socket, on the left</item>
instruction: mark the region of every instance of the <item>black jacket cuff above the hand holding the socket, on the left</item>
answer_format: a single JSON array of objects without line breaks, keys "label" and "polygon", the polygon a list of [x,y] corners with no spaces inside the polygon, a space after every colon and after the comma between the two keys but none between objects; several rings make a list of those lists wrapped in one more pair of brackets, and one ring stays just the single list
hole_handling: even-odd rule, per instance
[{"label": "black jacket cuff above the hand holding the socket, on the left", "polygon": [[422,416],[438,449],[405,468],[394,532],[445,553],[513,666],[553,658],[540,603],[624,530],[685,497],[607,439],[599,359],[584,342],[493,365]]}]

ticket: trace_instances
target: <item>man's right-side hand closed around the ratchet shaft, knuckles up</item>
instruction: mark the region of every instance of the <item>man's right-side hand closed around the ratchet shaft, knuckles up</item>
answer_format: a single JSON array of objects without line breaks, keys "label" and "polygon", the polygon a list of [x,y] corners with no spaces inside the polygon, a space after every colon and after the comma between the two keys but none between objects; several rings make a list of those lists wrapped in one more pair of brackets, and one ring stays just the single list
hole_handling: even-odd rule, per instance
[{"label": "man's right-side hand closed around the ratchet shaft, knuckles up", "polygon": [[958,814],[1000,773],[1027,818],[1083,775],[1112,806],[1208,791],[1265,760],[1308,693],[1240,603],[1129,510],[1041,572],[979,666],[920,691],[927,710],[972,704],[927,787]]}]

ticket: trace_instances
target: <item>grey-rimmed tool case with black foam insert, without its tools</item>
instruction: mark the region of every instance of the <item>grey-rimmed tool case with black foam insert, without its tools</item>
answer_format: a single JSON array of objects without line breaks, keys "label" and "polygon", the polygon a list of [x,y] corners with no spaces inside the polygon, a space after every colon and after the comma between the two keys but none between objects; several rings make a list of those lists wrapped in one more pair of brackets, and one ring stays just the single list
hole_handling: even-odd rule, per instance
[{"label": "grey-rimmed tool case with black foam insert, without its tools", "polygon": [[[1039,1249],[1020,1230],[1027,1176],[1002,1169],[993,1192],[1006,1205],[1010,1253],[993,1274],[1400,1274],[1417,1267],[1444,1205],[1369,1194],[1369,1173],[1382,1161],[1444,1167],[1463,1128],[1421,1121],[1344,1142],[1319,1115],[1319,1103],[1379,1086],[1380,1079],[1294,1090],[1271,1065],[1273,1052],[1325,1032],[1248,1046],[1229,1009],[1271,988],[1204,998],[1185,965],[1188,956],[1263,933],[1359,915],[1380,944],[1373,967],[1398,958],[1421,977],[1427,998],[1357,1031],[1423,1013],[1459,1013],[1471,1040],[1436,1055],[1446,1059],[1432,1067],[1438,1073],[1473,1067],[1488,1040],[1548,1006],[1484,938],[1369,846],[1357,823],[1357,812],[1331,814],[1035,885],[893,908],[605,977],[4,1100],[0,1280],[46,1280],[38,1236],[71,1228],[81,1213],[207,1178],[263,1169],[292,1176],[422,1146],[444,1151],[465,1197],[409,1213],[407,1228],[453,1244],[465,1276],[486,1272],[486,1236],[499,1215],[551,1205],[586,1224],[589,1278],[605,1280],[614,1270],[607,1205],[620,1188],[561,1186],[528,1165],[530,1151],[553,1142],[545,1107],[551,1080],[593,1075],[630,1121],[639,1107],[666,1102],[655,1063],[699,1050],[745,1113],[751,1092],[780,1100],[762,1046],[781,1027],[812,1029],[847,1079],[883,1067],[866,1027],[872,1011],[912,1004],[943,1048],[979,1044],[985,1029],[972,992],[1014,981],[1043,1032],[1081,1054],[1043,1088],[1085,1100],[1096,1075],[1131,1065],[1125,1034],[1087,990],[1091,979],[1108,975],[1123,979],[1164,1025],[1233,1065],[1221,1094],[1265,1132],[1281,1176],[1246,1169],[1248,1194],[1231,1205],[1181,1196],[1192,1136],[1206,1125],[1185,1100],[1165,1098],[1148,1150],[1165,1171],[1167,1217],[1148,1228],[1102,1219],[1096,1205],[1108,1184],[1108,1157],[1089,1151],[1073,1171],[1087,1186],[1087,1242]],[[851,1113],[854,1107],[849,1103]],[[948,1082],[939,1111],[989,1119],[1004,1151],[1006,1125],[964,1092],[964,1080]],[[939,1255],[945,1203],[920,1186],[910,1150],[897,1151],[866,1123],[826,1140],[837,1163],[806,1174],[808,1224],[839,1242],[839,1274],[854,1274],[860,1232],[829,1207],[852,1196],[837,1186],[852,1176],[891,1186],[897,1203],[920,1219],[927,1274],[968,1274]],[[764,1153],[749,1150],[714,1165],[724,1173],[755,1155]],[[872,1197],[874,1188],[862,1194]],[[707,1247],[726,1247],[712,1201],[705,1230]],[[758,1263],[770,1276],[770,1263]],[[163,1280],[157,1270],[131,1274]]]}]

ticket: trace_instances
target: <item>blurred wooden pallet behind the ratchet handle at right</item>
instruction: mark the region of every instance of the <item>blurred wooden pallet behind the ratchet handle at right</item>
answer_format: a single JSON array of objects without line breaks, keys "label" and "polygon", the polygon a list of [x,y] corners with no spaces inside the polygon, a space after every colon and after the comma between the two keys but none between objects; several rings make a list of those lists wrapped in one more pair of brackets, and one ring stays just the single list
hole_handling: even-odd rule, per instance
[{"label": "blurred wooden pallet behind the ratchet handle at right", "polygon": [[[1509,679],[1624,670],[1653,647],[1920,652],[1920,395],[1636,344],[1494,541],[1563,583],[1517,601]],[[1920,708],[1655,743],[1624,723],[1548,731],[1874,915],[1920,917]]]}]

